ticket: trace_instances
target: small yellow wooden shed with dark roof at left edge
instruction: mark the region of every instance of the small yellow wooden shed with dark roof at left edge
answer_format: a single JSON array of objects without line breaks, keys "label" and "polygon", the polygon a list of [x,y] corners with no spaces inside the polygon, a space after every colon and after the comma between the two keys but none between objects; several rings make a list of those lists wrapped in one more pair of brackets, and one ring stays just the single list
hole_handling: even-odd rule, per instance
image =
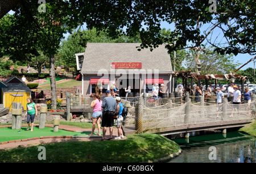
[{"label": "small yellow wooden shed with dark roof at left edge", "polygon": [[9,107],[11,111],[12,103],[17,102],[22,103],[22,107],[26,110],[27,98],[31,97],[31,90],[27,84],[15,76],[5,80],[2,84],[2,103],[5,108]]}]

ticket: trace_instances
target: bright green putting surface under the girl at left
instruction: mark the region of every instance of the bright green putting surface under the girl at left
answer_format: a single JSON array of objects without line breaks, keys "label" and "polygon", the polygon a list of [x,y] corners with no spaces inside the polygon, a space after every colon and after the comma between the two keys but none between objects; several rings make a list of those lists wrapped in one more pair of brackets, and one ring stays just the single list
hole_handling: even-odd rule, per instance
[{"label": "bright green putting surface under the girl at left", "polygon": [[[41,137],[41,136],[86,136],[89,134],[90,134],[90,131],[73,132],[73,131],[60,130],[60,129],[57,132],[53,132],[53,128],[45,127],[44,129],[39,129],[37,126],[34,126],[34,131],[27,130],[27,127],[22,127],[22,129],[20,130],[11,129],[11,128],[0,128],[0,142]],[[94,135],[97,135],[97,132],[94,131]]]}]

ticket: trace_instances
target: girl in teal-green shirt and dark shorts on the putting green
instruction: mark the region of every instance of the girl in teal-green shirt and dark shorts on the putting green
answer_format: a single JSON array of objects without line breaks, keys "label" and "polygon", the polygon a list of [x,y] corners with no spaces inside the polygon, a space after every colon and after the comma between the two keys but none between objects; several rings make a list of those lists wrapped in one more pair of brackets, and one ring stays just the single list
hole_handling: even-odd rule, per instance
[{"label": "girl in teal-green shirt and dark shorts on the putting green", "polygon": [[26,117],[27,117],[27,130],[30,129],[30,121],[31,121],[31,130],[33,131],[34,127],[34,118],[35,116],[38,116],[38,108],[36,108],[36,104],[31,98],[27,99],[27,111],[26,111]]}]

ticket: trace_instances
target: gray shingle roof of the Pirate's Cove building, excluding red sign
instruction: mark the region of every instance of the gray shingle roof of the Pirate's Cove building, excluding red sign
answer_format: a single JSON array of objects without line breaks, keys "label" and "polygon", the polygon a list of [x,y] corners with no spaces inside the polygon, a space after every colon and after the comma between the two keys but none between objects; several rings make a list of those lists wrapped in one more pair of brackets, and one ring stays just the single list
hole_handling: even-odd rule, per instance
[{"label": "gray shingle roof of the Pirate's Cove building, excluding red sign", "polygon": [[142,62],[142,69],[146,71],[149,69],[154,72],[154,69],[158,69],[159,72],[172,72],[170,55],[164,45],[159,45],[152,52],[150,49],[138,51],[136,46],[139,45],[139,43],[87,43],[81,73],[97,73],[100,69],[110,72],[112,62]]}]

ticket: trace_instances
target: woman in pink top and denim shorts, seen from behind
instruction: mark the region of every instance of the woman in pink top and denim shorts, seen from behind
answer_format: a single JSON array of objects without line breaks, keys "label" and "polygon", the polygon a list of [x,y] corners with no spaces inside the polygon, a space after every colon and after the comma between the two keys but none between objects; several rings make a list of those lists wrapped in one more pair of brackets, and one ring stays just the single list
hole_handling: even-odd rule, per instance
[{"label": "woman in pink top and denim shorts, seen from behind", "polygon": [[101,125],[100,125],[100,121],[101,121],[101,117],[102,117],[101,96],[99,94],[94,93],[93,98],[94,98],[94,100],[90,104],[90,108],[93,108],[93,114],[92,114],[92,124],[93,125],[92,125],[92,133],[89,136],[93,136],[96,123],[97,123],[97,127],[98,127],[97,135],[101,136]]}]

